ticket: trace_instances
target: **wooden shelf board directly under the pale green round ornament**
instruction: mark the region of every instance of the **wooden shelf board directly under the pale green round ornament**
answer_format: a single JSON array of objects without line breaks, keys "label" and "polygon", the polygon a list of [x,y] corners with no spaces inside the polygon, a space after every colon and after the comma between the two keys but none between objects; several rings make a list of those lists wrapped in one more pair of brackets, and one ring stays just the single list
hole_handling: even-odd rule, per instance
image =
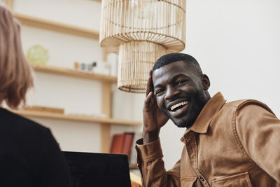
[{"label": "wooden shelf board directly under the pale green round ornament", "polygon": [[79,71],[75,69],[62,68],[62,67],[53,67],[48,65],[41,64],[31,64],[34,71],[47,73],[47,74],[57,74],[62,76],[73,76],[77,78],[86,78],[90,80],[109,82],[109,83],[117,83],[118,78],[116,76],[106,76],[102,74],[94,74],[87,71]]}]

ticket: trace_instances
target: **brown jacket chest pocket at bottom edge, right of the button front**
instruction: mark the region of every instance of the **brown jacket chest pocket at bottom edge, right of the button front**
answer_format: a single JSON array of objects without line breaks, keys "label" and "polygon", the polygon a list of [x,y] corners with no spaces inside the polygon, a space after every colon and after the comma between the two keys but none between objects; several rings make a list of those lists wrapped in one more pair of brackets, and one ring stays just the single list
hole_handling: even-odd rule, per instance
[{"label": "brown jacket chest pocket at bottom edge, right of the button front", "polygon": [[213,179],[212,186],[216,187],[253,187],[248,172]]}]

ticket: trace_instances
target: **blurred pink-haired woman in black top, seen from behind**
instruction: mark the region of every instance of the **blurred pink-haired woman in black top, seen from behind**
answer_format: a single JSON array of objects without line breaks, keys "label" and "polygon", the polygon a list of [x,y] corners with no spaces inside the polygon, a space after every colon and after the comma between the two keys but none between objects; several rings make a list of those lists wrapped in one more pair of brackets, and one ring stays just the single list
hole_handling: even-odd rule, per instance
[{"label": "blurred pink-haired woman in black top, seen from behind", "polygon": [[3,109],[18,109],[33,87],[20,25],[0,3],[0,186],[70,186],[69,171],[50,130]]}]

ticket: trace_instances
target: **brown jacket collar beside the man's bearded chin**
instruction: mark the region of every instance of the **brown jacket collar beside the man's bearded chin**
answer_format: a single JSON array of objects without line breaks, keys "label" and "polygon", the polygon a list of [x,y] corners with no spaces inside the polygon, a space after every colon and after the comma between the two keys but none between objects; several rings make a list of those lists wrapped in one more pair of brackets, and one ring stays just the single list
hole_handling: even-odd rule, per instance
[{"label": "brown jacket collar beside the man's bearded chin", "polygon": [[[202,111],[197,116],[195,123],[193,123],[193,125],[188,130],[186,130],[184,136],[190,131],[200,134],[206,133],[212,118],[216,113],[218,113],[218,111],[220,111],[225,102],[226,101],[223,98],[221,92],[216,93],[216,95],[209,99],[207,104],[205,104],[205,106],[202,108]],[[181,141],[183,141],[183,139],[184,137],[181,138]]]}]

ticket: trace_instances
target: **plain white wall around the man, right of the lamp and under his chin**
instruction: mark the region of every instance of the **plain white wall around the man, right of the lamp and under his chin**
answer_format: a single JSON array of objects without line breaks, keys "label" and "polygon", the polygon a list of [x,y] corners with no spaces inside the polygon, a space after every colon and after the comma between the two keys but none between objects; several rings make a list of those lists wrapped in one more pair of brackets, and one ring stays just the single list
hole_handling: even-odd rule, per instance
[{"label": "plain white wall around the man, right of the lamp and under his chin", "polygon": [[[258,99],[280,118],[280,1],[188,0],[186,49],[211,81],[213,96]],[[160,134],[167,168],[180,158],[185,130],[169,122]],[[176,146],[175,146],[176,145]]]}]

